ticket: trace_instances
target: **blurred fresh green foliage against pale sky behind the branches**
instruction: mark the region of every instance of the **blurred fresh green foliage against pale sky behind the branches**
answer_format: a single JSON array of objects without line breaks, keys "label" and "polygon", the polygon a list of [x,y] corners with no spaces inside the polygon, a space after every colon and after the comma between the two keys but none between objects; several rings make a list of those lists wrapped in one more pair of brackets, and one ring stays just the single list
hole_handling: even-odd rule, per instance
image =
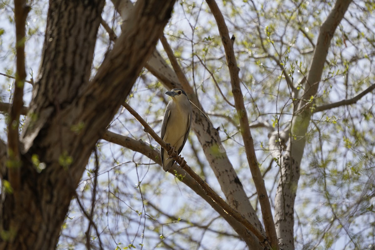
[{"label": "blurred fresh green foliage against pale sky behind the branches", "polygon": [[[222,1],[218,3],[229,32],[236,37],[234,49],[240,68],[244,101],[252,124],[252,136],[260,169],[274,205],[279,166],[270,155],[268,135],[286,129],[294,114],[290,79],[303,91],[304,76],[314,53],[320,26],[332,9],[331,1]],[[6,1],[0,15],[0,72],[14,75],[14,32],[12,6]],[[36,72],[43,44],[47,4],[34,1],[27,23],[27,72]],[[350,99],[372,84],[375,75],[374,9],[372,1],[354,2],[336,30],[329,49],[317,96],[311,96],[312,112],[318,106]],[[103,18],[116,34],[121,18],[111,2]],[[6,22],[6,25],[3,23]],[[261,217],[251,178],[236,110],[233,102],[225,53],[214,17],[205,1],[178,1],[166,37],[190,85],[196,91],[214,127],[219,127],[225,151],[239,175],[258,216]],[[111,49],[107,31],[99,28],[92,75]],[[158,45],[159,51],[162,46]],[[165,58],[166,54],[163,54]],[[166,59],[169,61],[168,59]],[[204,63],[204,65],[202,65]],[[207,67],[207,68],[206,68]],[[209,72],[209,71],[210,72]],[[28,78],[30,79],[30,77]],[[0,101],[10,102],[13,81],[1,77]],[[26,85],[26,104],[31,99]],[[169,100],[165,89],[150,72],[139,76],[129,104],[159,133]],[[315,112],[306,135],[308,143],[301,163],[301,179],[295,205],[296,249],[371,249],[375,244],[375,135],[374,91],[356,104]],[[6,117],[0,116],[5,128]],[[78,124],[74,130],[81,130]],[[273,129],[272,129],[273,127]],[[109,129],[121,135],[142,139],[150,147],[158,145],[127,111],[119,109]],[[291,135],[293,136],[293,135]],[[6,141],[6,131],[1,132]],[[57,249],[82,249],[86,244],[92,192],[96,192],[92,216],[98,228],[89,232],[93,246],[99,238],[105,249],[244,249],[246,244],[203,199],[181,183],[184,176],[171,175],[141,153],[101,140],[98,186],[95,187],[95,156],[72,200]],[[199,175],[224,197],[216,177],[191,132],[182,156]],[[60,156],[69,170],[72,159]],[[40,162],[33,156],[37,168]],[[2,192],[11,192],[3,183]]]}]

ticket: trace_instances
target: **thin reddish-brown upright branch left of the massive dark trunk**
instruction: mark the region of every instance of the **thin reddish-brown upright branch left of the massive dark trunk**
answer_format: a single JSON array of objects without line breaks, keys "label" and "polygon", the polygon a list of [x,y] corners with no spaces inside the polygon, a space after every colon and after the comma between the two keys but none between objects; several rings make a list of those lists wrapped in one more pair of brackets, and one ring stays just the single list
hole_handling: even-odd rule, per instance
[{"label": "thin reddish-brown upright branch left of the massive dark trunk", "polygon": [[[13,103],[9,111],[8,124],[8,165],[9,183],[14,190],[15,199],[18,199],[20,189],[20,113],[23,108],[23,89],[26,79],[25,70],[25,41],[26,41],[26,18],[30,7],[26,5],[26,0],[14,1],[14,13],[16,24],[16,77],[14,83]],[[17,204],[17,202],[16,202]]]}]

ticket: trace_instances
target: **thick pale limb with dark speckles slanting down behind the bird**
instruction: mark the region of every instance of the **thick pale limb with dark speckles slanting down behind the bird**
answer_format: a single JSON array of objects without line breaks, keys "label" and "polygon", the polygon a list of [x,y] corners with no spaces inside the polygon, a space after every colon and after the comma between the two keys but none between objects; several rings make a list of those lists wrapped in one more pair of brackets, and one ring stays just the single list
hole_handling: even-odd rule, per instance
[{"label": "thick pale limb with dark speckles slanting down behind the bird", "polygon": [[[121,16],[127,17],[132,7],[129,7],[127,0],[112,0],[114,6]],[[129,18],[127,18],[129,19]],[[188,85],[181,85],[176,73],[171,67],[166,64],[162,56],[155,50],[150,56],[145,66],[153,75],[155,75],[167,89],[182,88],[187,93],[190,101],[192,101],[201,110],[204,109],[199,103],[198,97],[195,95],[193,89]],[[261,232],[264,232],[263,226],[251,206],[249,199],[243,189],[239,177],[234,171],[232,164],[229,162],[223,147],[219,132],[213,127],[211,122],[196,108],[193,108],[193,124],[192,129],[195,132],[200,144],[202,145],[204,154],[208,163],[214,171],[214,174],[219,181],[222,192],[224,193],[227,202],[239,211],[246,219],[255,225]],[[252,242],[258,242],[254,235],[243,231],[236,231],[242,238],[252,238]],[[261,249],[260,245],[250,244],[250,249]]]}]

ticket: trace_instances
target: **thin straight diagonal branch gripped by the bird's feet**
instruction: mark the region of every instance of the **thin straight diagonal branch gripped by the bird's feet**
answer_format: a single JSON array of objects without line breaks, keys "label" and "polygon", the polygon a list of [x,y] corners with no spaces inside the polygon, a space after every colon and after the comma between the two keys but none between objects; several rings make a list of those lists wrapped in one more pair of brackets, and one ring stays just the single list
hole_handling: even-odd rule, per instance
[{"label": "thin straight diagonal branch gripped by the bird's feet", "polygon": [[151,129],[150,126],[143,120],[143,118],[134,111],[127,103],[123,103],[123,106],[132,114],[141,124],[144,126],[144,131],[146,133],[149,133],[154,140],[160,144],[161,147],[163,147],[166,151],[168,151],[168,155],[172,157],[181,168],[183,168],[187,174],[189,174],[205,191],[207,196],[209,196],[211,199],[213,199],[214,202],[216,202],[223,211],[228,213],[230,216],[234,217],[238,222],[242,223],[249,231],[251,231],[259,240],[259,243],[263,247],[263,249],[271,250],[271,245],[267,237],[265,237],[254,225],[252,225],[249,220],[247,220],[242,214],[240,214],[237,210],[233,209],[230,205],[228,205],[217,193],[211,189],[208,184],[202,180],[202,178],[199,177],[187,164],[186,161],[183,159],[183,157],[178,156],[175,151],[171,150],[171,146],[169,144],[166,144],[165,141],[163,141],[155,132],[153,129]]}]

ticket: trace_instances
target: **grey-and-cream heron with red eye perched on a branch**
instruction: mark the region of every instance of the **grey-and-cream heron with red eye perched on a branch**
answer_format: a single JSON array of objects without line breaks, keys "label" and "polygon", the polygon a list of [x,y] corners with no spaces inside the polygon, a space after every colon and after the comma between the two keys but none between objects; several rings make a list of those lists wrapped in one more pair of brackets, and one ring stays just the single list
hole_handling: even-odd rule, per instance
[{"label": "grey-and-cream heron with red eye perched on a branch", "polygon": [[[172,97],[172,100],[166,105],[160,138],[177,150],[179,155],[189,136],[193,111],[185,91],[174,88],[165,94]],[[160,153],[163,170],[167,172],[175,161],[169,158],[167,151],[162,147]]]}]

